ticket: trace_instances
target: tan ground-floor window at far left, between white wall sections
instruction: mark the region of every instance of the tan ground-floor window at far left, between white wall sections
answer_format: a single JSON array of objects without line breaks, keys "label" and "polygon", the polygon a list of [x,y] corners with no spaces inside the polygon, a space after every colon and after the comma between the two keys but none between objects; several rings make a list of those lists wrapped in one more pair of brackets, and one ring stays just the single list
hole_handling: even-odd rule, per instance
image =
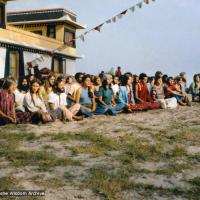
[{"label": "tan ground-floor window at far left, between white wall sections", "polygon": [[9,54],[9,75],[14,77],[16,80],[19,78],[19,52],[10,51]]}]

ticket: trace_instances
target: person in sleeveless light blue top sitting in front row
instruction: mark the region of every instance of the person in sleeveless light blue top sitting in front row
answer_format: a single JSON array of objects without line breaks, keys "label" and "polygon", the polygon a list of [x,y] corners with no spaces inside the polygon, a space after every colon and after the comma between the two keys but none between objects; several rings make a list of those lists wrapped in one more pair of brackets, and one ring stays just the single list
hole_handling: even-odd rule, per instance
[{"label": "person in sleeveless light blue top sitting in front row", "polygon": [[91,90],[90,75],[83,77],[81,88],[77,91],[76,103],[81,104],[81,113],[86,117],[91,117],[96,109],[94,93]]}]

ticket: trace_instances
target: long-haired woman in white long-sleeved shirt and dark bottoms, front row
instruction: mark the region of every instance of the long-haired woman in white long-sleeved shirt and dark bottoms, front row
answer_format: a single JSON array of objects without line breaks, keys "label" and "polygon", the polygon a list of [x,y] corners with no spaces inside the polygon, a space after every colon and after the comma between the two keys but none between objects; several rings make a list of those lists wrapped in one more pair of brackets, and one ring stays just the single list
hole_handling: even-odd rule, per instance
[{"label": "long-haired woman in white long-sleeved shirt and dark bottoms, front row", "polygon": [[41,82],[38,79],[34,79],[30,83],[30,91],[24,97],[24,107],[29,113],[31,113],[32,122],[34,124],[52,121],[39,93],[40,84]]}]

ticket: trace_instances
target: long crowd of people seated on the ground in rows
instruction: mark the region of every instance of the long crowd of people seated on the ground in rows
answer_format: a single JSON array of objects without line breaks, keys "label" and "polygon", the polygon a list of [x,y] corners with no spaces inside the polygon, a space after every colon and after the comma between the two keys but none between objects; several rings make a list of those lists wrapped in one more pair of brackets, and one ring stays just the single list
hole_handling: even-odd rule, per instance
[{"label": "long crowd of people seated on the ground in rows", "polygon": [[187,88],[186,74],[171,77],[158,71],[154,77],[103,71],[98,75],[48,77],[30,74],[17,81],[0,79],[0,125],[79,121],[93,115],[175,109],[200,102],[200,74]]}]

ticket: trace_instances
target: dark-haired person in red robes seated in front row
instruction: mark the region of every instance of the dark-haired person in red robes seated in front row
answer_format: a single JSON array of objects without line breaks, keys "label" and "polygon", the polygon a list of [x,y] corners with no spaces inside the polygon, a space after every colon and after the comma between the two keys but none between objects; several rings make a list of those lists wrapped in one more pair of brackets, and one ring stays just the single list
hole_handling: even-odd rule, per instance
[{"label": "dark-haired person in red robes seated in front row", "polygon": [[147,81],[147,75],[144,73],[140,74],[139,83],[136,84],[135,88],[136,103],[144,106],[144,108],[142,108],[144,110],[159,109],[160,103],[151,98],[150,92],[147,88]]}]

